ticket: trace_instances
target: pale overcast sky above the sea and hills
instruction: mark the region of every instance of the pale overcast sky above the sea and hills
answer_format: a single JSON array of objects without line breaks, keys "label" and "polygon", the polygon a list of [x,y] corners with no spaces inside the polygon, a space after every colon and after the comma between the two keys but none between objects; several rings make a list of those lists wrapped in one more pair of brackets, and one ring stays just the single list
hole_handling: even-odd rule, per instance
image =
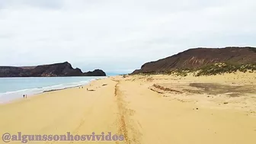
[{"label": "pale overcast sky above the sea and hills", "polygon": [[122,73],[193,47],[255,45],[255,0],[0,0],[0,66]]}]

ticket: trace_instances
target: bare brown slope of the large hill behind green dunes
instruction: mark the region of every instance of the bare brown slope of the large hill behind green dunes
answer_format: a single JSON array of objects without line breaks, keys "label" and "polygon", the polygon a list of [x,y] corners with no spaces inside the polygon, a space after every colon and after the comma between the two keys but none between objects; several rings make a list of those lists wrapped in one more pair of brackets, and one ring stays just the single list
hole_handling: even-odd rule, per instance
[{"label": "bare brown slope of the large hill behind green dunes", "polygon": [[254,47],[226,47],[226,48],[195,48],[145,63],[141,69],[133,74],[166,72],[174,69],[196,69],[216,62],[231,64],[248,64],[256,62],[256,48]]}]

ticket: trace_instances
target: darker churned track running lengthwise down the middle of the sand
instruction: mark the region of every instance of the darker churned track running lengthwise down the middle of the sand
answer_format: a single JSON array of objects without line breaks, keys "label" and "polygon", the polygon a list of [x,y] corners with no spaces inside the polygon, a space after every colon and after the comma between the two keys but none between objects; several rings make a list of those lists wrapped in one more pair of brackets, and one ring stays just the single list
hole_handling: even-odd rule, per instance
[{"label": "darker churned track running lengthwise down the middle of the sand", "polygon": [[[119,85],[120,81],[115,81],[117,84],[115,85],[115,97],[117,98],[117,108],[118,108],[118,116],[117,116],[117,129],[120,135],[124,136],[124,142],[126,144],[140,144],[140,136],[139,130],[136,129],[136,125],[134,121],[131,119],[131,116],[135,113],[135,110],[130,110],[127,108],[126,101],[123,100],[122,91],[120,91]],[[119,142],[116,142],[117,144]]]}]

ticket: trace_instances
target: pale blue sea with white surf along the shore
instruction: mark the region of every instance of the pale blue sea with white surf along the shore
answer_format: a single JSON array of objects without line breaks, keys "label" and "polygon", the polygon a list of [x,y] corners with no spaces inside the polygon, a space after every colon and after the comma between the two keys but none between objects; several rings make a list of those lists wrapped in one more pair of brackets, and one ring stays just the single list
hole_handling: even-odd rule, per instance
[{"label": "pale blue sea with white surf along the shore", "polygon": [[23,98],[23,94],[30,97],[43,91],[86,85],[98,78],[106,77],[0,78],[0,104]]}]

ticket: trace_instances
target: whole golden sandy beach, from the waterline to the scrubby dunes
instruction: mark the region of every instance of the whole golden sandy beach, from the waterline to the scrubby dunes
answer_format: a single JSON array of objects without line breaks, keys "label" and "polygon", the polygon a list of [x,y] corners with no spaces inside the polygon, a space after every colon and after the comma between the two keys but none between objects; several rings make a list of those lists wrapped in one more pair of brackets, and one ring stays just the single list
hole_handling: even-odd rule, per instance
[{"label": "whole golden sandy beach, from the waterline to the scrubby dunes", "polygon": [[254,144],[255,84],[256,73],[249,72],[114,76],[84,88],[50,91],[0,105],[0,134],[111,132],[125,140],[88,143]]}]

